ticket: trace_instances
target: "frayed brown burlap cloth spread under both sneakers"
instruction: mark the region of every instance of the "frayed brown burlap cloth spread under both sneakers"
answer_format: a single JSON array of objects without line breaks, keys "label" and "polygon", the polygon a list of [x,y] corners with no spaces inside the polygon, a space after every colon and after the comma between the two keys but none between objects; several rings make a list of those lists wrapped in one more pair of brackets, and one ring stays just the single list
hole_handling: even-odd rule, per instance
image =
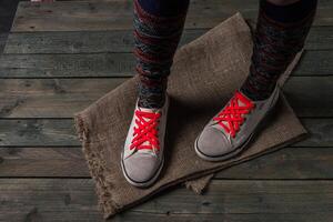
[{"label": "frayed brown burlap cloth spread under both sneakers", "polygon": [[[120,153],[135,104],[138,79],[132,78],[75,115],[104,218],[133,206],[168,186],[204,176],[186,183],[200,192],[208,184],[211,173],[281,148],[305,134],[292,109],[281,97],[268,127],[241,155],[218,163],[196,157],[193,150],[196,135],[245,79],[251,51],[250,29],[238,13],[176,52],[168,89],[171,107],[165,164],[159,181],[149,189],[130,185],[120,167]],[[296,60],[283,80],[295,63]]]}]

